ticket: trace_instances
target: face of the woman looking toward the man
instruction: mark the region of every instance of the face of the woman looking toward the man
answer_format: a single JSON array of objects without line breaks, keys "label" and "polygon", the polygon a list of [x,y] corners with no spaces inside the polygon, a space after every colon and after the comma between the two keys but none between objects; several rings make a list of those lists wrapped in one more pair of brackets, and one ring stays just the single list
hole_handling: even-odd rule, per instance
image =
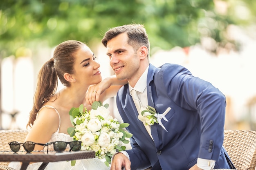
[{"label": "face of the woman looking toward the man", "polygon": [[102,80],[100,64],[88,46],[82,46],[75,54],[74,78],[83,85],[97,84]]}]

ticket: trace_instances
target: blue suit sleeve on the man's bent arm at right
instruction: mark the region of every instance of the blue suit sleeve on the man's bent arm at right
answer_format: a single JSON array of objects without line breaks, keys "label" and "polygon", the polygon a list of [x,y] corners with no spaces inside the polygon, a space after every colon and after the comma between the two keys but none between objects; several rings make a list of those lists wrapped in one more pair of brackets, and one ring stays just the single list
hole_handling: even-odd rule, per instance
[{"label": "blue suit sleeve on the man's bent arm at right", "polygon": [[186,68],[175,64],[162,66],[157,79],[164,82],[173,102],[197,111],[201,132],[198,157],[217,161],[224,139],[225,95],[211,83],[194,77]]}]

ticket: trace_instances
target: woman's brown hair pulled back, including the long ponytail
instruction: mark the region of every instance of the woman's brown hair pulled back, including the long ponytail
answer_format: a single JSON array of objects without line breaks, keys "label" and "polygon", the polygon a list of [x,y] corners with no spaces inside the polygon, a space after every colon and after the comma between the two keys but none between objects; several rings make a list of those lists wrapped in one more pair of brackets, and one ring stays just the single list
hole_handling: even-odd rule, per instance
[{"label": "woman's brown hair pulled back, including the long ponytail", "polygon": [[64,86],[70,86],[70,82],[65,80],[63,75],[64,73],[73,73],[74,55],[82,46],[85,46],[85,44],[76,40],[62,42],[54,50],[53,57],[42,66],[38,73],[36,92],[33,99],[34,105],[29,112],[27,128],[28,126],[33,126],[40,108],[56,93],[58,79]]}]

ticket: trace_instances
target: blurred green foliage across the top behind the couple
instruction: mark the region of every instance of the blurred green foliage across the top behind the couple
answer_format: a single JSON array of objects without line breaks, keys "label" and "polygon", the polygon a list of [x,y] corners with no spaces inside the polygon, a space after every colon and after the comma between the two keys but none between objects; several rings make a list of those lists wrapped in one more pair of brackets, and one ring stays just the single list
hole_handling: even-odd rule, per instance
[{"label": "blurred green foliage across the top behind the couple", "polygon": [[53,47],[65,40],[90,46],[109,28],[130,23],[144,24],[151,51],[191,46],[202,38],[238,49],[227,28],[255,23],[254,9],[255,0],[1,0],[0,57],[18,57],[36,50],[36,44]]}]

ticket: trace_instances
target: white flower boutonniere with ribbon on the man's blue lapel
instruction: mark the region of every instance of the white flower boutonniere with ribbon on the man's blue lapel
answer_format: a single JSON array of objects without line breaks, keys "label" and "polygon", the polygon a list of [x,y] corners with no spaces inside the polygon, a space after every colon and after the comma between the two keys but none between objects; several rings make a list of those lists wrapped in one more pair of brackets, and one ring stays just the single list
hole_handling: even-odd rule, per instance
[{"label": "white flower boutonniere with ribbon on the man's blue lapel", "polygon": [[150,126],[157,123],[160,126],[162,126],[162,128],[164,128],[166,132],[168,132],[164,127],[164,125],[162,124],[162,119],[164,119],[165,121],[168,121],[164,115],[166,115],[166,113],[168,113],[170,110],[171,108],[168,107],[164,111],[164,113],[159,114],[157,113],[155,108],[151,106],[146,106],[146,110],[141,111],[141,114],[138,115],[138,119],[142,122],[145,122],[146,125],[150,125]]}]

